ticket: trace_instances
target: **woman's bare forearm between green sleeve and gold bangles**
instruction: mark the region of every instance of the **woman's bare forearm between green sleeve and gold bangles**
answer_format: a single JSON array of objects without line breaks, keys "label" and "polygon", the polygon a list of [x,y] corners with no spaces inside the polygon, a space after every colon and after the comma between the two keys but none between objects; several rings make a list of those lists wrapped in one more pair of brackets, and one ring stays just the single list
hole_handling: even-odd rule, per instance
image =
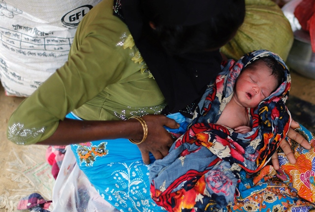
[{"label": "woman's bare forearm between green sleeve and gold bangles", "polygon": [[41,145],[68,145],[102,139],[127,138],[140,140],[143,136],[139,121],[60,121],[55,133],[48,139],[38,142]]}]

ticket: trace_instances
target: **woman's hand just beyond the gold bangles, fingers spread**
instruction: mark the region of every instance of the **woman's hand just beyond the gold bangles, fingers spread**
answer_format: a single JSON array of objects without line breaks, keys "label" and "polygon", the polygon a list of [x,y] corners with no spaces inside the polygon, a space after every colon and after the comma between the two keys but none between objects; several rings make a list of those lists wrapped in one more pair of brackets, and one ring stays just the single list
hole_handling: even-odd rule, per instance
[{"label": "woman's hand just beyond the gold bangles, fingers spread", "polygon": [[[150,164],[149,152],[151,152],[156,159],[161,159],[168,154],[168,150],[174,142],[174,138],[164,126],[177,129],[179,128],[179,123],[164,115],[146,115],[142,118],[148,125],[148,136],[143,143],[137,146],[141,151],[143,162]],[[139,140],[141,139],[142,138],[139,138]]]}]

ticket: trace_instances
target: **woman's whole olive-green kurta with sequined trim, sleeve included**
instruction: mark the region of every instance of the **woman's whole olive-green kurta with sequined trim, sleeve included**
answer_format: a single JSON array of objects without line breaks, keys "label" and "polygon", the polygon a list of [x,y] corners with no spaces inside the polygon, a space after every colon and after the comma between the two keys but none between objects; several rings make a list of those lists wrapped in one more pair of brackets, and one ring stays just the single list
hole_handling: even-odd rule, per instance
[{"label": "woman's whole olive-green kurta with sequined trim, sleeve included", "polygon": [[9,140],[45,140],[71,111],[84,120],[160,113],[165,99],[112,8],[113,0],[103,0],[84,17],[68,61],[12,114]]}]

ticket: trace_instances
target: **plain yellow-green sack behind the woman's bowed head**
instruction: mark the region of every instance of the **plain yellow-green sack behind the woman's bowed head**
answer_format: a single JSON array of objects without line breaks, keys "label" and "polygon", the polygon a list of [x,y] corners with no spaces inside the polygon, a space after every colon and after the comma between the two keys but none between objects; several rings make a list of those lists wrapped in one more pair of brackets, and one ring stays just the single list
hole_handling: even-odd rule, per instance
[{"label": "plain yellow-green sack behind the woman's bowed head", "polygon": [[245,4],[243,25],[221,52],[228,59],[238,60],[253,50],[267,49],[286,61],[294,37],[280,7],[272,0],[245,0]]}]

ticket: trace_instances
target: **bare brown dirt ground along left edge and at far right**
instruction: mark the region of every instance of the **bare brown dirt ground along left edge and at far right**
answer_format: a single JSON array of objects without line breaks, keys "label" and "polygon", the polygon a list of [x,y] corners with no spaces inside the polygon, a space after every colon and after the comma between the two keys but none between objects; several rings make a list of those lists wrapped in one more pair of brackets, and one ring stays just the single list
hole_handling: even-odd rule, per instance
[{"label": "bare brown dirt ground along left edge and at far right", "polygon": [[[300,76],[293,71],[291,72],[291,78],[292,87],[290,95],[315,104],[315,80]],[[12,208],[14,208],[14,204],[16,203],[10,201],[10,197],[19,194],[21,191],[20,183],[12,180],[12,170],[8,169],[8,162],[14,161],[15,155],[27,153],[26,151],[37,151],[37,156],[42,155],[38,162],[45,161],[44,155],[45,149],[47,148],[46,146],[38,147],[34,145],[25,148],[9,142],[6,138],[7,121],[11,113],[23,99],[24,98],[5,96],[3,88],[0,87],[0,212],[14,211]]]}]

